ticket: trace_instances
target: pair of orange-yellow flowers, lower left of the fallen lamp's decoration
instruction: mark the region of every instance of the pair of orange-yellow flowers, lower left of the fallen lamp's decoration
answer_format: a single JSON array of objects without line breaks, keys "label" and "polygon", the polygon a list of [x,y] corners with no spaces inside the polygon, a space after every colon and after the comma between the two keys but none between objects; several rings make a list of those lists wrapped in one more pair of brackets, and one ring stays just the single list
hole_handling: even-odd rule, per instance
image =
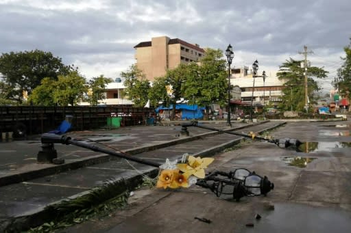
[{"label": "pair of orange-yellow flowers, lower left of the fallen lamp's decoration", "polygon": [[189,187],[187,179],[179,173],[179,169],[163,170],[158,176],[156,187],[177,189],[178,187]]}]

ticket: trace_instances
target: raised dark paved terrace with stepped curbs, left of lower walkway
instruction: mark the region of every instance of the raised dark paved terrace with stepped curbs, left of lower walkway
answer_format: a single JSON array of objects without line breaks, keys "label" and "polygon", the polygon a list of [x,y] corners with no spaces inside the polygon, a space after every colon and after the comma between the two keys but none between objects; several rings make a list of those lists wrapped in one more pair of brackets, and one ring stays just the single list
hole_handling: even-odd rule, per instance
[{"label": "raised dark paved terrace with stepped curbs, left of lower walkway", "polygon": [[[228,128],[226,122],[202,124],[248,133],[245,130],[247,126],[254,127],[250,131],[258,132],[279,126],[282,122],[233,122],[232,128]],[[190,137],[180,137],[180,128],[174,125],[134,126],[112,131],[71,132],[68,135],[158,163],[167,158],[178,159],[184,152],[213,154],[239,143],[241,138],[197,127],[189,127]],[[196,139],[201,140],[194,141]],[[49,221],[45,215],[47,206],[85,195],[92,187],[99,187],[108,179],[123,178],[132,183],[125,185],[137,186],[142,178],[139,173],[157,171],[153,167],[61,144],[56,144],[55,148],[58,158],[65,160],[63,165],[38,164],[36,154],[41,150],[40,145],[38,136],[25,141],[1,143],[0,208],[3,211],[0,213],[0,230],[25,229],[33,224],[34,219],[36,223]]]}]

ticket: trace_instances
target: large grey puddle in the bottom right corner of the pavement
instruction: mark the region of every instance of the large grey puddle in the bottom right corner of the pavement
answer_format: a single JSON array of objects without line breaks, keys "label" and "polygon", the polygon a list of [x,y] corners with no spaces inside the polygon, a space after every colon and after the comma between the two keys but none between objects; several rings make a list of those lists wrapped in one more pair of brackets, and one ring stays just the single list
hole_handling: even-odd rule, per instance
[{"label": "large grey puddle in the bottom right corner of the pavement", "polygon": [[276,203],[245,232],[350,232],[351,213],[341,208]]}]

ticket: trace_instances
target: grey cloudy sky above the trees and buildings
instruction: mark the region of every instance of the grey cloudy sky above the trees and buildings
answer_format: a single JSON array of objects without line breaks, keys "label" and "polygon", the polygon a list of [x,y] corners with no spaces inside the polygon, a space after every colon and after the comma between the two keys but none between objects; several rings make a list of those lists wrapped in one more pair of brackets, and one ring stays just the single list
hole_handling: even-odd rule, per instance
[{"label": "grey cloudy sky above the trees and buildings", "polygon": [[203,48],[234,47],[233,64],[271,76],[308,46],[313,66],[330,72],[350,44],[350,0],[0,0],[0,53],[50,51],[87,79],[119,77],[134,63],[133,46],[156,36]]}]

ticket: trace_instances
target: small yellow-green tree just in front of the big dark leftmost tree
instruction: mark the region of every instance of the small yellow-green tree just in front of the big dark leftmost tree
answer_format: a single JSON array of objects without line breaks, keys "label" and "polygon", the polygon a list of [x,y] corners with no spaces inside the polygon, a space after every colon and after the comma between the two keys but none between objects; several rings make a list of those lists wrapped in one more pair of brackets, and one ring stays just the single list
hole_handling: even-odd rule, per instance
[{"label": "small yellow-green tree just in front of the big dark leftmost tree", "polygon": [[29,95],[29,102],[34,105],[53,106],[56,105],[54,93],[56,91],[57,81],[51,78],[44,78],[41,85],[38,85]]}]

